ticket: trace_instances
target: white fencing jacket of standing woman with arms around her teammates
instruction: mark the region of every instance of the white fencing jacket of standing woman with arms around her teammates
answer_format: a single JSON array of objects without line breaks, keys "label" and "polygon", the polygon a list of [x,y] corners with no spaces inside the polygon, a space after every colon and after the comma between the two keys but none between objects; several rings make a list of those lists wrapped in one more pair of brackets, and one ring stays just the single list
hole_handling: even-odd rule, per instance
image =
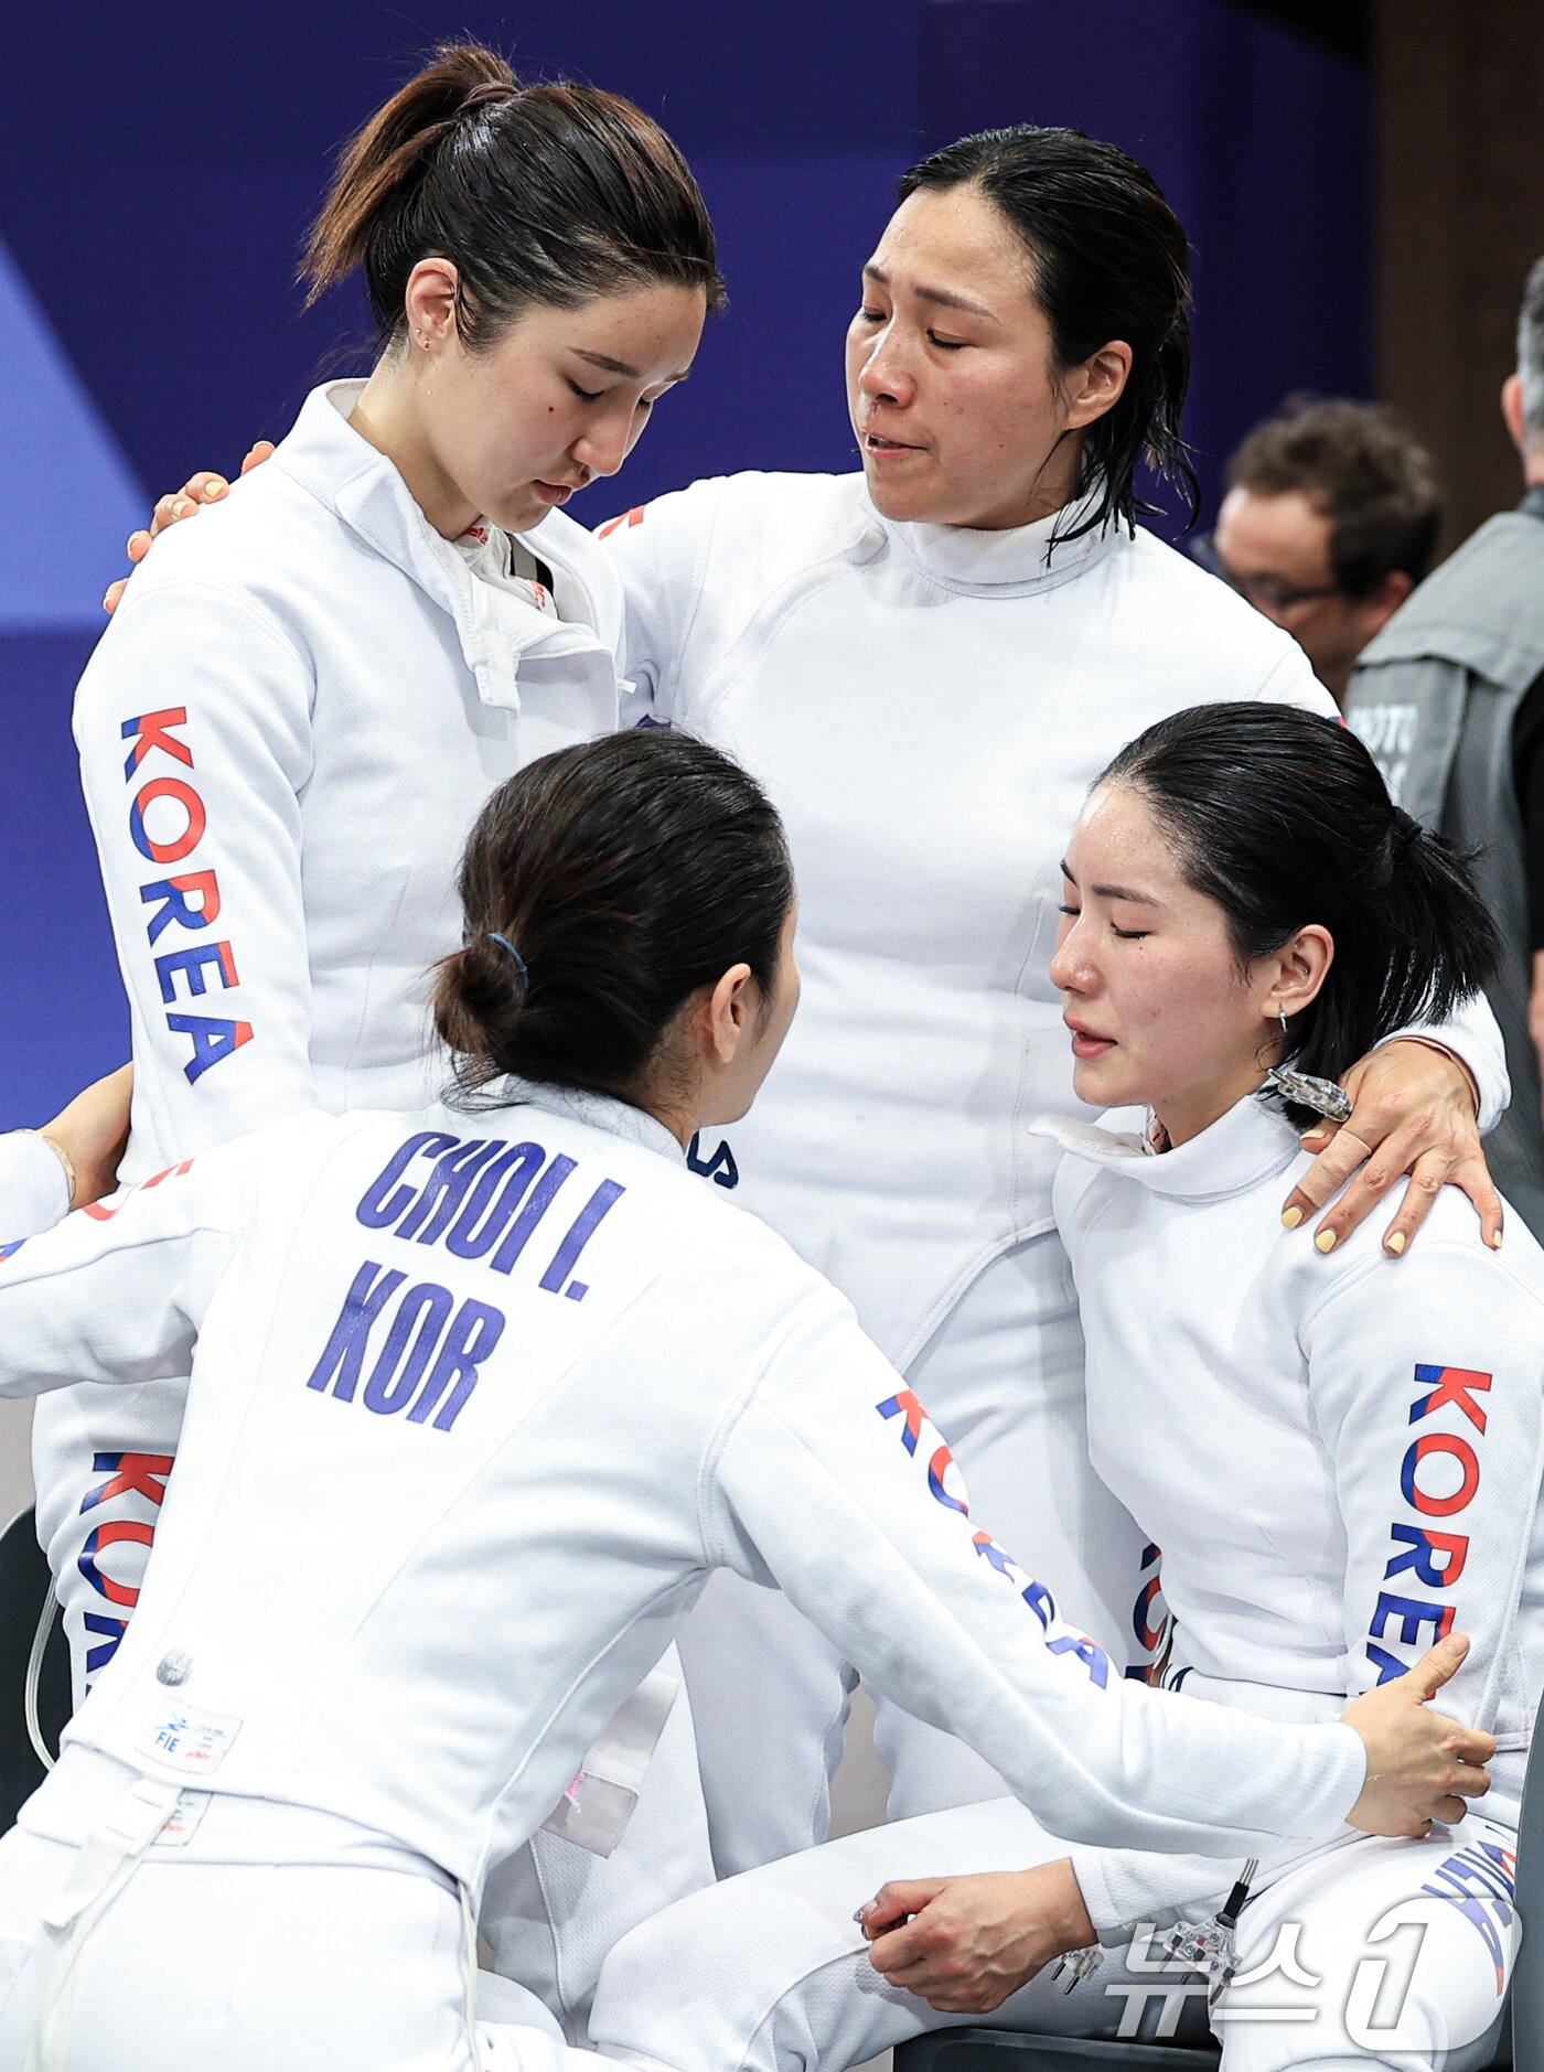
[{"label": "white fencing jacket of standing woman with arms around her teammates", "polygon": [[[908,1365],[980,1268],[1053,1227],[1036,1115],[1071,1092],[1047,978],[1084,796],[1146,725],[1266,698],[1335,715],[1302,649],[1150,533],[1057,547],[891,524],[860,474],[736,474],[601,528],[624,673],[788,825],[804,1003],[730,1158],[703,1162]],[[1480,1003],[1451,1038],[1507,1102]]]}]

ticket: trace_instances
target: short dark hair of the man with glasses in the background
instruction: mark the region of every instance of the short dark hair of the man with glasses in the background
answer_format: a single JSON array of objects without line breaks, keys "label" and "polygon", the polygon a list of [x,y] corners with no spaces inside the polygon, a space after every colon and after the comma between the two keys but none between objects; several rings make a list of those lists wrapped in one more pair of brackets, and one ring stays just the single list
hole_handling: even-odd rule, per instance
[{"label": "short dark hair of the man with glasses in the background", "polygon": [[1420,582],[1432,566],[1436,470],[1395,410],[1293,396],[1233,454],[1227,487],[1306,495],[1331,522],[1331,574],[1347,597],[1368,597],[1395,570]]}]

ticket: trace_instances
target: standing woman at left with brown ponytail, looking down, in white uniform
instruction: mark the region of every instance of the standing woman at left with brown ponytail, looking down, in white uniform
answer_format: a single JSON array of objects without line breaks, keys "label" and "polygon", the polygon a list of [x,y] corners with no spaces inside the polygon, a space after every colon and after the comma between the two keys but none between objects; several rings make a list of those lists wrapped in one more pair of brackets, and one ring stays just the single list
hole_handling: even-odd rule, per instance
[{"label": "standing woman at left with brown ponytail, looking down, in white uniform", "polygon": [[[379,151],[414,133],[421,155],[373,182]],[[512,220],[510,166],[539,199],[580,133],[591,218],[549,234],[541,207]],[[647,168],[669,224],[634,199]],[[543,274],[578,234],[582,309],[566,274],[557,288]],[[375,118],[317,238],[319,280],[340,240],[334,274],[365,253],[381,363],[369,383],[313,392],[274,460],[135,574],[77,696],[133,1019],[126,1179],[265,1119],[412,1109],[437,1090],[425,974],[460,939],[466,829],[520,762],[622,717],[618,578],[555,506],[620,466],[717,282],[690,172],[647,116],[597,89],[520,93],[475,50]],[[419,259],[444,251],[479,282],[475,350],[456,269]],[[638,379],[599,375],[595,356]],[[170,1376],[39,1405],[39,1537],[77,1693],[139,1595],[182,1397]],[[618,1925],[711,1875],[686,1705],[651,1792],[663,1805],[642,1807],[620,1854],[547,1838],[541,1890],[526,1867],[485,1921],[497,1960],[531,1977],[541,1958],[578,2022]]]}]

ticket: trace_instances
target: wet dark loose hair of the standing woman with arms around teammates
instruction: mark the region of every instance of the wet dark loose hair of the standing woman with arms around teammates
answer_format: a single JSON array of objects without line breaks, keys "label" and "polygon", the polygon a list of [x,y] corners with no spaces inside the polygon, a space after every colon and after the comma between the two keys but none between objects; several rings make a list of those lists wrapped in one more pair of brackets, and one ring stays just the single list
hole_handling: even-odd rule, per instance
[{"label": "wet dark loose hair of the standing woman with arms around teammates", "polygon": [[1078,367],[1111,338],[1132,346],[1119,402],[1084,431],[1078,497],[1088,510],[1057,539],[1078,539],[1154,510],[1136,489],[1138,462],[1173,481],[1190,520],[1200,487],[1179,433],[1190,387],[1190,244],[1146,166],[1074,128],[980,131],[945,145],[899,182],[976,186],[1001,209],[1034,267],[1034,300],[1051,327],[1057,369]]}]

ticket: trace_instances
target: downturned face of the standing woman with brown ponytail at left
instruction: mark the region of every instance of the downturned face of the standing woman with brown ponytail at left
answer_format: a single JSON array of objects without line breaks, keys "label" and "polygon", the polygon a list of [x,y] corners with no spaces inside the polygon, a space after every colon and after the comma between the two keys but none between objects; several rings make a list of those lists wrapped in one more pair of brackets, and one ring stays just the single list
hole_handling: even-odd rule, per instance
[{"label": "downturned face of the standing woman with brown ponytail at left", "polygon": [[450,336],[417,373],[448,508],[526,533],[616,474],[653,404],[686,379],[705,315],[700,288],[659,284],[578,309],[539,305],[479,352]]}]

